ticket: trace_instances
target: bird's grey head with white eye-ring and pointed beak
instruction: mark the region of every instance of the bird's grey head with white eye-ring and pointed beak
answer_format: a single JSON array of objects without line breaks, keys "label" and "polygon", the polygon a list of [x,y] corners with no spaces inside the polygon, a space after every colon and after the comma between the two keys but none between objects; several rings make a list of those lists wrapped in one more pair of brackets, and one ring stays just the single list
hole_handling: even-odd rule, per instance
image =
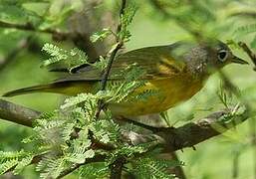
[{"label": "bird's grey head with white eye-ring and pointed beak", "polygon": [[228,64],[248,64],[234,56],[228,46],[220,41],[201,43],[185,55],[188,70],[197,75],[210,75]]}]

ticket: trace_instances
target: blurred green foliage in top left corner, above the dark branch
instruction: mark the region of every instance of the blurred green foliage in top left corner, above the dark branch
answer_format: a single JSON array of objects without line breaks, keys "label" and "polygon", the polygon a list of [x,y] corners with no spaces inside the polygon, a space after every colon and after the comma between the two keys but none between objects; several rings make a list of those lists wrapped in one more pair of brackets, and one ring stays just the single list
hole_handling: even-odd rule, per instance
[{"label": "blurred green foliage in top left corner, above the dark branch", "polygon": [[74,12],[81,11],[82,0],[65,1],[5,1],[0,4],[0,21],[9,23],[30,23],[39,30],[52,29],[65,24]]}]

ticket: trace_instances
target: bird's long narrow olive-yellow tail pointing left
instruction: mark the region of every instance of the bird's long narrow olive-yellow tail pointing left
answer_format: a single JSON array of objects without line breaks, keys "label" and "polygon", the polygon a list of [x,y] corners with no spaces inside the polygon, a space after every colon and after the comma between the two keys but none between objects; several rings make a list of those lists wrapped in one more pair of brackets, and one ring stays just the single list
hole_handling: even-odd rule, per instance
[{"label": "bird's long narrow olive-yellow tail pointing left", "polygon": [[46,85],[33,86],[24,89],[11,90],[3,94],[3,96],[14,96],[32,92],[54,92],[63,93],[68,95],[76,95],[81,92],[91,92],[93,84],[89,82],[77,81],[77,82],[58,82]]}]

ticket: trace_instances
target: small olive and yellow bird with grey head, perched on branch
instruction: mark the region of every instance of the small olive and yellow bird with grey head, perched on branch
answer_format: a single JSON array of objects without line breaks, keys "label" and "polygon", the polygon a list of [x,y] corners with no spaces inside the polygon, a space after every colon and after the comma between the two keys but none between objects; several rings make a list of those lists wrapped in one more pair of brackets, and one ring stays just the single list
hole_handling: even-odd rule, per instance
[{"label": "small olive and yellow bird with grey head, perched on branch", "polygon": [[[118,76],[129,65],[135,64],[145,73],[140,78],[144,86],[134,89],[130,95],[156,90],[145,99],[110,102],[108,107],[116,116],[138,116],[158,113],[189,99],[203,88],[208,77],[224,66],[248,64],[234,56],[228,46],[220,41],[208,43],[177,42],[167,46],[146,47],[119,55],[111,69],[108,83],[122,82]],[[94,66],[86,66],[73,75],[53,83],[25,89],[16,89],[3,96],[30,92],[55,92],[76,95],[99,90],[102,72]]]}]

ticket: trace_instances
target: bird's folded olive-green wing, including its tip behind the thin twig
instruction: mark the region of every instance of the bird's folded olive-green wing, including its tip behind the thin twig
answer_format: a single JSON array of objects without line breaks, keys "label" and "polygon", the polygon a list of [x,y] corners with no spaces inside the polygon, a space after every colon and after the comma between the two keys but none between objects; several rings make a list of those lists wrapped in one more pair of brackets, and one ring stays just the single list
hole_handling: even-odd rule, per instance
[{"label": "bird's folded olive-green wing, including its tip behind the thin twig", "polygon": [[[176,53],[180,48],[178,43],[169,46],[147,47],[129,51],[115,60],[109,80],[124,79],[124,70],[135,66],[143,71],[142,79],[169,78],[183,72],[185,62],[183,56]],[[81,69],[77,74],[69,75],[57,82],[65,81],[99,81],[103,73],[93,66]]]}]

